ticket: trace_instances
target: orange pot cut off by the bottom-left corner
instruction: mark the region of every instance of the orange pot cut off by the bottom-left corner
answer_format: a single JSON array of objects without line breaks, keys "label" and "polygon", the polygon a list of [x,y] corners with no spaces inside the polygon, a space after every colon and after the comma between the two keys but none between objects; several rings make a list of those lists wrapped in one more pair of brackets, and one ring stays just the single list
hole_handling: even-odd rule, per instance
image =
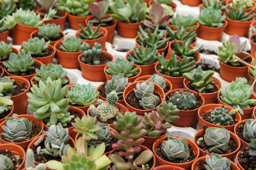
[{"label": "orange pot cut off by the bottom-left corner", "polygon": [[23,148],[21,148],[17,144],[5,143],[5,144],[0,144],[0,150],[7,150],[7,151],[10,151],[17,155],[20,155],[20,157],[22,157],[23,160],[22,160],[20,166],[17,167],[16,170],[22,169],[22,167],[24,166],[24,163],[25,163],[25,158],[26,158],[26,152],[24,151]]}]

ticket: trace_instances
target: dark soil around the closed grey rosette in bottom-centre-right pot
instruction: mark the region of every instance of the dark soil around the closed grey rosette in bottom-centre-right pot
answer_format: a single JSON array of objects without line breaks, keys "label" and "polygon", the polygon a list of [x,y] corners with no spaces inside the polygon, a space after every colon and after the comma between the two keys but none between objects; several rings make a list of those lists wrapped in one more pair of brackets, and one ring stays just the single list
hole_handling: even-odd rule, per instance
[{"label": "dark soil around the closed grey rosette in bottom-centre-right pot", "polygon": [[159,144],[157,147],[156,147],[156,155],[158,155],[158,157],[162,158],[163,160],[166,160],[167,162],[172,162],[172,163],[175,163],[175,164],[184,164],[184,163],[187,163],[187,162],[190,162],[191,160],[194,160],[196,155],[193,153],[193,150],[191,148],[190,145],[188,145],[189,147],[189,152],[190,152],[190,155],[189,155],[189,158],[187,158],[186,160],[182,159],[182,158],[173,158],[173,160],[169,160],[168,158],[166,158],[162,151],[161,151],[161,144]]}]

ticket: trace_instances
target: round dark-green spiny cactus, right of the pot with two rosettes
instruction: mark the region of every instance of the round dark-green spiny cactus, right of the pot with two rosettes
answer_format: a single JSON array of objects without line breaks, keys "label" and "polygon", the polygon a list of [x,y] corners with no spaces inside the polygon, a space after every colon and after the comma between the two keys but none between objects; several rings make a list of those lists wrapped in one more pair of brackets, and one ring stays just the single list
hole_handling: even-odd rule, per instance
[{"label": "round dark-green spiny cactus, right of the pot with two rosettes", "polygon": [[176,91],[170,101],[180,110],[193,110],[196,107],[196,97],[189,91]]}]

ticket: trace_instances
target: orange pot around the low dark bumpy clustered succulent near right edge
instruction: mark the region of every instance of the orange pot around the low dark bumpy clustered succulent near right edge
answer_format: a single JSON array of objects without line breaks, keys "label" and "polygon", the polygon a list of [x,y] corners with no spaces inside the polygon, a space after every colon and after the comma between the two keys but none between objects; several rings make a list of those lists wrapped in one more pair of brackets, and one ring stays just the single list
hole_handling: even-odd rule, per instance
[{"label": "orange pot around the low dark bumpy clustered succulent near right edge", "polygon": [[[216,107],[227,107],[227,110],[228,112],[230,112],[232,110],[232,107],[229,107],[227,105],[222,105],[222,104],[207,104],[207,105],[203,105],[203,107],[201,107],[200,109],[198,109],[198,121],[199,121],[199,124],[200,124],[200,129],[202,129],[203,127],[218,127],[218,128],[226,128],[227,130],[230,130],[231,132],[234,132],[234,128],[235,126],[237,125],[234,124],[234,125],[229,125],[229,126],[221,126],[221,125],[215,125],[213,123],[209,123],[208,121],[205,121],[202,116],[211,111],[211,110],[214,110],[216,109]],[[241,115],[239,112],[236,112],[235,114],[236,116],[236,121],[239,122],[241,121]]]}]

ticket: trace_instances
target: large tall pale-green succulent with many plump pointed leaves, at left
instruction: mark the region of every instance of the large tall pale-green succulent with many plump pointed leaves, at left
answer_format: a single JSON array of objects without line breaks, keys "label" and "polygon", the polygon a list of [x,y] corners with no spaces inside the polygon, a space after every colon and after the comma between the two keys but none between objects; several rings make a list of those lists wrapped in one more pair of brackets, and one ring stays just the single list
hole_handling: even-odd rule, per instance
[{"label": "large tall pale-green succulent with many plump pointed leaves, at left", "polygon": [[33,84],[31,92],[27,93],[28,109],[35,112],[37,120],[44,120],[47,126],[56,125],[61,122],[63,127],[67,127],[74,115],[70,115],[68,110],[67,94],[68,86],[61,88],[61,80],[52,81],[47,78],[46,83],[39,81],[39,88]]}]

